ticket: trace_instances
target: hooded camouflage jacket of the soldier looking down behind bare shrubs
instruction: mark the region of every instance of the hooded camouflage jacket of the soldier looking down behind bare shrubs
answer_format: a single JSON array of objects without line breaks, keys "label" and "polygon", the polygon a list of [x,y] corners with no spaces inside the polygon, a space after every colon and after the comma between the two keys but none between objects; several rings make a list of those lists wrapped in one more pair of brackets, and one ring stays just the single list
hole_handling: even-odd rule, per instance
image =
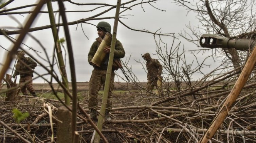
[{"label": "hooded camouflage jacket of the soldier looking down behind bare shrubs", "polygon": [[157,59],[152,59],[149,53],[143,55],[146,60],[146,67],[148,70],[148,80],[157,80],[157,76],[161,76],[163,66]]}]

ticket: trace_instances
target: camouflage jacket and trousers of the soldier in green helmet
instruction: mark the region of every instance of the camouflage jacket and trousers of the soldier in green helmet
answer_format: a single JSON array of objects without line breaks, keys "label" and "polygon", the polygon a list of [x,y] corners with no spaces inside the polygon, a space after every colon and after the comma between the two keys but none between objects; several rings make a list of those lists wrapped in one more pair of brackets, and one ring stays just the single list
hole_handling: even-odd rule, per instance
[{"label": "camouflage jacket and trousers of the soldier in green helmet", "polygon": [[[91,65],[92,65],[91,60],[94,54],[96,53],[99,45],[100,44],[97,41],[94,41],[90,48],[90,51],[88,53],[88,62]],[[119,40],[116,40],[114,58],[123,58],[124,56],[125,56],[125,51],[124,51],[123,45]],[[97,109],[98,91],[100,90],[102,85],[103,85],[103,88],[105,86],[108,59],[109,59],[109,54],[106,54],[100,67],[93,65],[94,69],[92,70],[92,75],[89,81],[89,104],[88,104],[89,109]],[[107,106],[106,106],[106,110],[108,111],[111,111],[112,109],[112,91],[114,89],[114,78],[115,78],[115,74],[114,74],[114,71],[112,70],[110,85],[109,85],[109,92],[108,92],[108,100],[107,100]]]}]

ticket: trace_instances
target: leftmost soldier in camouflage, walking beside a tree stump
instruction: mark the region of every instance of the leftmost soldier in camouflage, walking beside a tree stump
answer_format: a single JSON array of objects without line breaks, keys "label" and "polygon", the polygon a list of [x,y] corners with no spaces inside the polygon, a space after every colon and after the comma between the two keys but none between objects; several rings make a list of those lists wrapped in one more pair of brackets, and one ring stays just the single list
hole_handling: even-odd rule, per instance
[{"label": "leftmost soldier in camouflage, walking beside a tree stump", "polygon": [[35,67],[37,63],[31,59],[30,57],[24,57],[25,53],[23,51],[18,51],[18,61],[15,65],[15,72],[13,78],[17,75],[20,75],[20,90],[23,95],[28,95],[27,89],[29,90],[30,94],[36,96],[35,90],[32,87],[32,77]]}]

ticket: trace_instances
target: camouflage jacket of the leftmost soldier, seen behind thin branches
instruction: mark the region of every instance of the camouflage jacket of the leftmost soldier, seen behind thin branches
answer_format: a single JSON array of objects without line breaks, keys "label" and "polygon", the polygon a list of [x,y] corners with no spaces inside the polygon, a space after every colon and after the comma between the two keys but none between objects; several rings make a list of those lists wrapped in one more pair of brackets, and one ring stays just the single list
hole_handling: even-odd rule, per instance
[{"label": "camouflage jacket of the leftmost soldier, seen behind thin branches", "polygon": [[[28,65],[28,67],[25,66],[25,64]],[[30,57],[23,57],[16,63],[14,75],[20,75],[20,77],[25,77],[28,75],[33,76],[33,69],[35,69],[36,66],[37,63],[33,59],[31,59]]]}]

